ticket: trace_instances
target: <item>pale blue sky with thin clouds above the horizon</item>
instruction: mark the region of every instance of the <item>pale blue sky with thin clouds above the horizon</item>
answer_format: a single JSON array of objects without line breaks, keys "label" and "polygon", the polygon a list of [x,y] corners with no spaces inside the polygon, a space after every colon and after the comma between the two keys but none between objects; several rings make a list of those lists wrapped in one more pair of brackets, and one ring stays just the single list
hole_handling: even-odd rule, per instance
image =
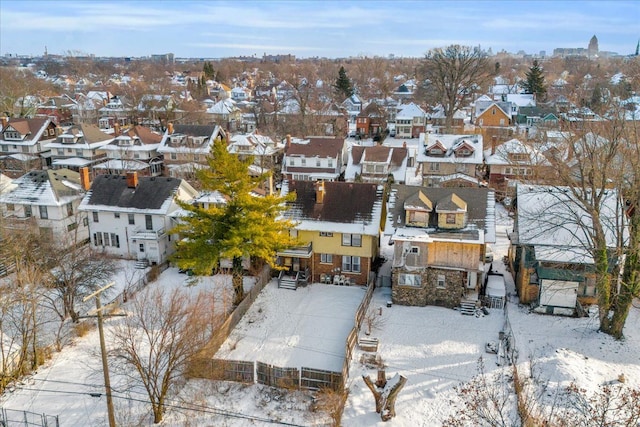
[{"label": "pale blue sky with thin clouds above the horizon", "polygon": [[0,54],[421,57],[449,44],[630,54],[640,1],[0,0]]}]

